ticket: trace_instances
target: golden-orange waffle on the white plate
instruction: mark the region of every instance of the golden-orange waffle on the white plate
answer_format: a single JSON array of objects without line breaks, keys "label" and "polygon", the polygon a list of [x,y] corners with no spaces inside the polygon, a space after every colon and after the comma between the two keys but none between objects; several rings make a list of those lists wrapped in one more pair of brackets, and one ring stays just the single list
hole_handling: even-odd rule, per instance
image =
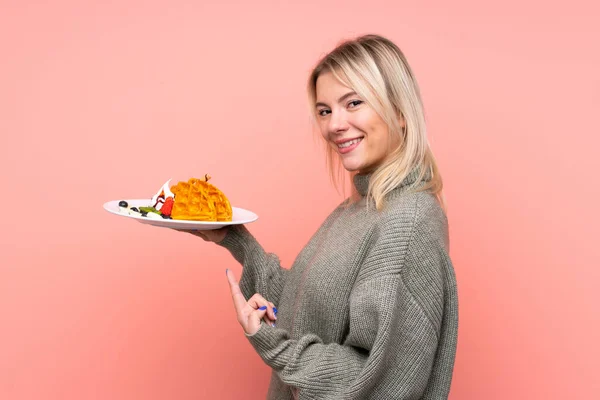
[{"label": "golden-orange waffle on the white plate", "polygon": [[175,203],[171,218],[192,221],[231,221],[231,204],[214,185],[205,180],[191,178],[171,188]]}]

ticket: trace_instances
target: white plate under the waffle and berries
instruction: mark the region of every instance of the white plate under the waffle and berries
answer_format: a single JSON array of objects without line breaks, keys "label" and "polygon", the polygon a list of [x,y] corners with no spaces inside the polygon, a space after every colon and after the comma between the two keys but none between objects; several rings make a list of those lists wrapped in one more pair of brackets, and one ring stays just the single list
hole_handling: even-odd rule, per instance
[{"label": "white plate under the waffle and berries", "polygon": [[[150,199],[123,200],[125,200],[129,204],[129,207],[148,207],[151,205]],[[113,200],[104,203],[104,209],[112,214],[116,214],[121,217],[132,218],[138,222],[141,222],[142,224],[160,226],[163,228],[187,229],[190,231],[210,231],[213,229],[223,228],[229,225],[248,224],[258,219],[258,215],[254,214],[252,211],[244,210],[243,208],[239,207],[231,207],[233,211],[232,220],[227,222],[185,221],[176,219],[154,219],[148,217],[138,217],[135,215],[121,213],[121,211],[119,210],[119,201],[121,200]]]}]

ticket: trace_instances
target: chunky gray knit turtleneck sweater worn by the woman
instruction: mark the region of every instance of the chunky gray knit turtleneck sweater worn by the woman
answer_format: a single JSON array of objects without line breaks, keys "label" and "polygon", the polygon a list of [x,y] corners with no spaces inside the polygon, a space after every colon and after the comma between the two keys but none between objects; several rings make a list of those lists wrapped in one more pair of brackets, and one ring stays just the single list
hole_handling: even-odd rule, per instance
[{"label": "chunky gray knit turtleneck sweater worn by the woman", "polygon": [[[268,399],[447,399],[458,301],[444,212],[409,174],[381,211],[342,203],[290,270],[243,226],[220,243],[242,292],[278,309],[248,339],[272,369]],[[418,183],[417,183],[418,184]],[[372,203],[372,202],[371,202]]]}]

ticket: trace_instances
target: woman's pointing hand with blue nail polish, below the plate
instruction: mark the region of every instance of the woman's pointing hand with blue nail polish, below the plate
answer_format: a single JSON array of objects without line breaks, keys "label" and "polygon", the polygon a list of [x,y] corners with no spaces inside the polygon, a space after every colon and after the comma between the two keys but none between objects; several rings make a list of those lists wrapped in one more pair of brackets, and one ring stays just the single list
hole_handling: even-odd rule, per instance
[{"label": "woman's pointing hand with blue nail polish, below the plate", "polygon": [[237,313],[238,322],[242,325],[242,328],[244,328],[244,332],[246,332],[247,335],[254,335],[258,332],[262,320],[271,326],[275,326],[275,320],[277,319],[275,314],[277,313],[277,309],[273,303],[267,301],[258,293],[254,294],[254,296],[246,301],[233,273],[230,270],[226,270],[225,273],[227,274],[227,280],[229,281],[229,288],[231,289],[231,297]]}]

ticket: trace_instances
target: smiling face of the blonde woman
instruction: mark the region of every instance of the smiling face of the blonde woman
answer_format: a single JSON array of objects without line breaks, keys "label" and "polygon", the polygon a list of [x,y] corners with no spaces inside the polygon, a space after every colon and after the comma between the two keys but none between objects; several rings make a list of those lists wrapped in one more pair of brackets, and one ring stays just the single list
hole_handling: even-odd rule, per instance
[{"label": "smiling face of the blonde woman", "polygon": [[344,168],[371,172],[396,145],[390,140],[387,124],[331,72],[319,75],[316,93],[321,134],[340,155]]}]

